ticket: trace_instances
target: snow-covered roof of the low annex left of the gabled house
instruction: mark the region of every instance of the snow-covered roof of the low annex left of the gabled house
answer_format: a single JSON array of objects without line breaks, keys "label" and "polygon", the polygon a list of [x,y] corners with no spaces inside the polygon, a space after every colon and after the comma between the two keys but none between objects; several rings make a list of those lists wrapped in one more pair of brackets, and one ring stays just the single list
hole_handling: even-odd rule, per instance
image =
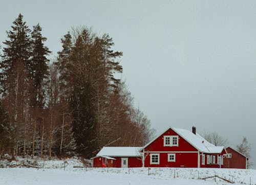
[{"label": "snow-covered roof of the low annex left of the gabled house", "polygon": [[140,156],[142,147],[103,147],[96,156]]}]

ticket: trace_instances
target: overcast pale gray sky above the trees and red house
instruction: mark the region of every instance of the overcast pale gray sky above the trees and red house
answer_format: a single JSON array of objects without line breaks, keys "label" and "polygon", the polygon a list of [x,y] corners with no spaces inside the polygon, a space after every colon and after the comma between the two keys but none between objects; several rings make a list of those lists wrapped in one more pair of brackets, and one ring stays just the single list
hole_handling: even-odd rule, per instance
[{"label": "overcast pale gray sky above the trees and red house", "polygon": [[247,136],[256,168],[256,1],[0,0],[1,42],[19,13],[39,22],[51,58],[71,26],[109,33],[157,133],[195,125],[234,148]]}]

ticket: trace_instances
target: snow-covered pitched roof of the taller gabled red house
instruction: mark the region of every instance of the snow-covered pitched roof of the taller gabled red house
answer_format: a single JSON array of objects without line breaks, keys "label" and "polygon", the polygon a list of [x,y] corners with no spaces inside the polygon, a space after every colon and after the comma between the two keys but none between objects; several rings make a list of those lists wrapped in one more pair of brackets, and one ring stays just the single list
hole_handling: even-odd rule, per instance
[{"label": "snow-covered pitched roof of the taller gabled red house", "polygon": [[[173,128],[173,127],[169,127],[168,129],[174,130],[177,134],[179,134],[182,138],[184,138],[184,140],[186,140],[189,144],[194,146],[200,152],[221,153],[222,150],[224,149],[223,146],[215,146],[214,144],[207,142],[201,135],[199,135],[198,133],[194,134],[190,130],[181,129],[181,128]],[[166,132],[167,130],[165,130],[164,132]],[[162,135],[163,133],[161,133],[160,135]],[[153,143],[155,140],[156,140],[156,138],[154,140],[152,140],[150,143],[146,144],[143,148],[147,147],[148,145]]]}]

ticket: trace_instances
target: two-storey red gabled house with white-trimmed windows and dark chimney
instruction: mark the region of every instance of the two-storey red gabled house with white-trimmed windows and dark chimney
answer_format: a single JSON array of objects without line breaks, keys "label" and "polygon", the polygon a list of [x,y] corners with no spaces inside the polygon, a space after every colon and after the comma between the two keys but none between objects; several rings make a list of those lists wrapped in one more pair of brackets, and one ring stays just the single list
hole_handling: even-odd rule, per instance
[{"label": "two-storey red gabled house with white-trimmed windows and dark chimney", "polygon": [[196,133],[168,128],[142,149],[143,167],[223,168],[223,146],[214,146]]}]

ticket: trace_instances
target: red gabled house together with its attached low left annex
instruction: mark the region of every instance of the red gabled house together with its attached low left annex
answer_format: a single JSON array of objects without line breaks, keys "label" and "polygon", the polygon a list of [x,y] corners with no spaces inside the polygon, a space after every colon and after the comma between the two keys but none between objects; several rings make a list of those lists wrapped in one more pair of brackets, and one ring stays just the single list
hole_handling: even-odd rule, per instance
[{"label": "red gabled house together with its attached low left annex", "polygon": [[[169,127],[144,147],[103,147],[93,167],[223,168],[223,146],[193,131]],[[103,165],[104,164],[104,165]]]}]

